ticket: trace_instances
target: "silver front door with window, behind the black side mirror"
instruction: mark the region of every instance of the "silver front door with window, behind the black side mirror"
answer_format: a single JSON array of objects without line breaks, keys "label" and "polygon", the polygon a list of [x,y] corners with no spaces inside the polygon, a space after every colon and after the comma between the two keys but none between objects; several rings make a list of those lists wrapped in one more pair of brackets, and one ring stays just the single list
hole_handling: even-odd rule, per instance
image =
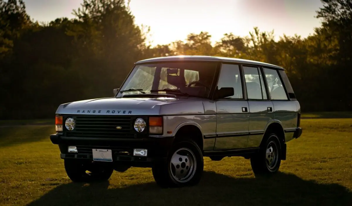
[{"label": "silver front door with window, behind the black side mirror", "polygon": [[246,148],[249,132],[249,106],[244,99],[240,68],[222,64],[218,89],[232,87],[234,95],[216,101],[216,140],[214,150]]}]

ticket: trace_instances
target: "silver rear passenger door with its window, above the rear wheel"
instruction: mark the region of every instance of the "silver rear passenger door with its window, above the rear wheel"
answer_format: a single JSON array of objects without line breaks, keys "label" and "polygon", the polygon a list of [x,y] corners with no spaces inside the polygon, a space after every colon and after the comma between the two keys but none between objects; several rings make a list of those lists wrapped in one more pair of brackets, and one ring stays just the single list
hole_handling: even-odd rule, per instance
[{"label": "silver rear passenger door with its window, above the rear wheel", "polygon": [[244,65],[243,74],[249,104],[249,136],[246,147],[258,147],[266,125],[274,119],[273,104],[268,98],[262,69]]}]

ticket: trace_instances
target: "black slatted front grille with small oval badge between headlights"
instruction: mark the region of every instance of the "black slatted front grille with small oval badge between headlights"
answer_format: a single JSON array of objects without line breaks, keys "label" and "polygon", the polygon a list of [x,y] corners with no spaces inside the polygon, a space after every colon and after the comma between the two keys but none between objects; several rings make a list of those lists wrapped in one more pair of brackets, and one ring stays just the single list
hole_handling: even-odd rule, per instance
[{"label": "black slatted front grille with small oval badge between headlights", "polygon": [[[137,117],[96,115],[64,116],[63,121],[65,122],[69,117],[74,118],[76,124],[72,131],[68,131],[64,126],[64,132],[67,137],[134,138],[136,134],[133,124]],[[120,126],[122,129],[116,129],[117,126]]]}]

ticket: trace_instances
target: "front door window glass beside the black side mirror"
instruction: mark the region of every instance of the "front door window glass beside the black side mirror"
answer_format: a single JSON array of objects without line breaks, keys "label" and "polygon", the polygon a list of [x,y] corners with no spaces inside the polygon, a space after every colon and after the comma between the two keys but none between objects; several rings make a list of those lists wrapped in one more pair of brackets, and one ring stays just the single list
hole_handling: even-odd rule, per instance
[{"label": "front door window glass beside the black side mirror", "polygon": [[218,81],[218,89],[221,89],[222,87],[232,87],[234,90],[234,95],[227,98],[243,99],[242,81],[240,68],[238,65],[222,64]]}]

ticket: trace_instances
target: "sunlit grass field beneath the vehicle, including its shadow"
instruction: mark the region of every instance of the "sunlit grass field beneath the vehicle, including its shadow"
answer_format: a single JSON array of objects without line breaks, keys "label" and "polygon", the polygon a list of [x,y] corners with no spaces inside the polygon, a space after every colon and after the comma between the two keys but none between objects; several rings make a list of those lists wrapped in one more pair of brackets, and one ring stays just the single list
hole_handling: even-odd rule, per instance
[{"label": "sunlit grass field beneath the vehicle, including its shadow", "polygon": [[[201,183],[159,188],[150,169],[114,172],[104,183],[67,177],[52,125],[0,127],[0,205],[352,205],[352,119],[302,119],[275,177],[255,178],[240,157],[205,158]],[[315,116],[316,117],[316,116]],[[312,118],[312,119],[309,119]],[[11,124],[9,124],[11,125]]]}]

